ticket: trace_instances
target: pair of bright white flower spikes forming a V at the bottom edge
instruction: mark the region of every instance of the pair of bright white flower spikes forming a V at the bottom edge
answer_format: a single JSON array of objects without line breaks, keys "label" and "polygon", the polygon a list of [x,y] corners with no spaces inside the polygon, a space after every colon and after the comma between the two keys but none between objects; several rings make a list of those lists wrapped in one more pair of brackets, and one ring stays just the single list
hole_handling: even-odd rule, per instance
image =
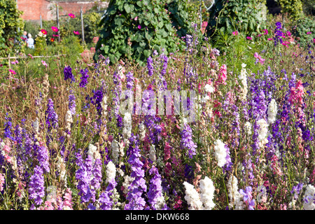
[{"label": "pair of bright white flower spikes forming a V at the bottom edge", "polygon": [[214,204],[214,183],[209,179],[209,177],[204,177],[200,181],[200,191],[201,193],[197,193],[195,187],[187,183],[186,181],[183,183],[185,186],[185,200],[189,204],[190,210],[211,210],[214,209],[216,204]]}]

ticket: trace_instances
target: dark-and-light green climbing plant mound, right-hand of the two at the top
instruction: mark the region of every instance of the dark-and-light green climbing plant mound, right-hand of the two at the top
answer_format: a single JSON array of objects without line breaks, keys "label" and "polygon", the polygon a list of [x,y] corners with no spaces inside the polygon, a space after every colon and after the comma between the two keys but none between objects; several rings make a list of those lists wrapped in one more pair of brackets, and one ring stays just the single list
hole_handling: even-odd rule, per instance
[{"label": "dark-and-light green climbing plant mound, right-hand of the two at the top", "polygon": [[211,8],[207,36],[218,35],[218,31],[232,34],[238,30],[251,36],[265,29],[262,16],[263,1],[218,0]]}]

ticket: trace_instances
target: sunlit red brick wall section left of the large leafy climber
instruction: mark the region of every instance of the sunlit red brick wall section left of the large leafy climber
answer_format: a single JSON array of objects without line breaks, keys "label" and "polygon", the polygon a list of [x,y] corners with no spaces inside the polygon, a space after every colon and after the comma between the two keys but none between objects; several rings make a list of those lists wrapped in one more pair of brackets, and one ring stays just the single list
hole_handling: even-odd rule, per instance
[{"label": "sunlit red brick wall section left of the large leafy climber", "polygon": [[42,20],[56,20],[56,3],[59,5],[59,15],[73,13],[78,17],[80,9],[82,8],[83,13],[85,13],[86,10],[94,6],[94,1],[18,0],[18,10],[24,12],[23,20],[40,20],[40,15]]}]

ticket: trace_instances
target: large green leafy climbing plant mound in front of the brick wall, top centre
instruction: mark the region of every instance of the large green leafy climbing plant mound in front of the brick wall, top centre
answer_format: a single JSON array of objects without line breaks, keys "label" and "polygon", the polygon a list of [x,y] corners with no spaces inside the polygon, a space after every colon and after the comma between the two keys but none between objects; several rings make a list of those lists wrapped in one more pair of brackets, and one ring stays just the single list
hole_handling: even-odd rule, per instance
[{"label": "large green leafy climbing plant mound in front of the brick wall, top centre", "polygon": [[[113,63],[123,57],[143,65],[153,50],[161,52],[164,48],[168,54],[183,49],[179,36],[188,30],[185,4],[181,0],[111,1],[100,22],[102,31],[94,59],[102,54]],[[172,25],[177,26],[177,34]]]}]

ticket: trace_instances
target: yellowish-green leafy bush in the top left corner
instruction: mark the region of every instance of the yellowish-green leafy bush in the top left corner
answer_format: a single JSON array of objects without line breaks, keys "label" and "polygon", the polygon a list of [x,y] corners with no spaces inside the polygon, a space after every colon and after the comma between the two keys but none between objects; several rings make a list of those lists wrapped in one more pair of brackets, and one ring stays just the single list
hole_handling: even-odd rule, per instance
[{"label": "yellowish-green leafy bush in the top left corner", "polygon": [[22,46],[22,31],[18,31],[18,27],[23,27],[20,15],[22,12],[15,0],[0,0],[0,56],[7,56]]}]

